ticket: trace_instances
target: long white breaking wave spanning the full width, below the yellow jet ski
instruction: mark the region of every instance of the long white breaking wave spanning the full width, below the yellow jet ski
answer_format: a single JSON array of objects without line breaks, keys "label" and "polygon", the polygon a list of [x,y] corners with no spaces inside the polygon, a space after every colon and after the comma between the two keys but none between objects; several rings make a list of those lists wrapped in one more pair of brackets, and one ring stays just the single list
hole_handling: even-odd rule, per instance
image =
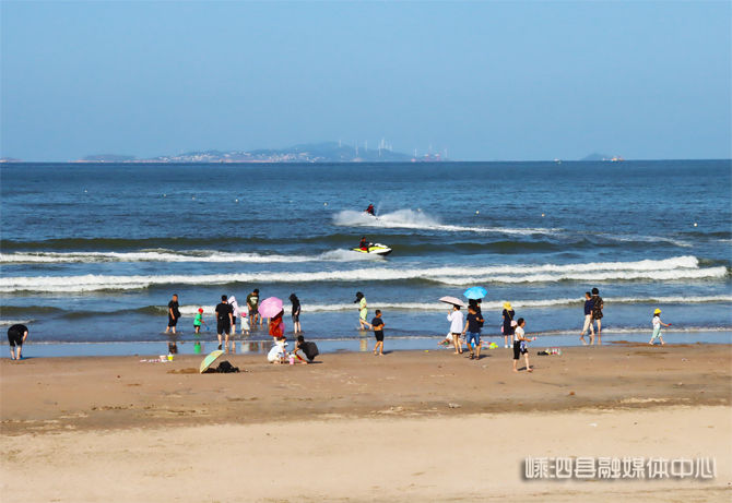
[{"label": "long white breaking wave spanning the full width, below the yellow jet ski", "polygon": [[5,292],[130,290],[154,285],[223,285],[229,283],[387,282],[424,279],[445,285],[553,283],[560,280],[676,280],[723,278],[727,267],[699,268],[695,256],[637,262],[580,264],[494,265],[485,267],[395,268],[370,267],[317,272],[259,272],[161,276],[31,276],[3,278]]}]

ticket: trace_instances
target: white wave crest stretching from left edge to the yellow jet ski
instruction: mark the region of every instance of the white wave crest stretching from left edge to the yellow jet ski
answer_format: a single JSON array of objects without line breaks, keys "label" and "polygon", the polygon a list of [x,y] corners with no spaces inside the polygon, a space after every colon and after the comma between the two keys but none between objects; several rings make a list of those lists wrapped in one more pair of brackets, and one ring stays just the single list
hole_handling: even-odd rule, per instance
[{"label": "white wave crest stretching from left edge to the yellow jet ski", "polygon": [[16,252],[0,253],[0,264],[94,263],[94,262],[210,262],[210,263],[299,263],[381,260],[375,254],[332,250],[315,256],[264,253],[232,253],[210,250],[140,250],[135,252]]}]

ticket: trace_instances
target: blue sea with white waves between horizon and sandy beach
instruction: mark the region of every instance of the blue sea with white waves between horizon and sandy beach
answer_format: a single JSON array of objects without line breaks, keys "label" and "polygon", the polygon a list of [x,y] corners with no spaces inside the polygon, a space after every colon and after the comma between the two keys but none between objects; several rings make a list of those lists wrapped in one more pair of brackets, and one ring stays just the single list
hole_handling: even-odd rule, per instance
[{"label": "blue sea with white waves between horizon and sandy beach", "polygon": [[[284,300],[288,337],[296,294],[306,338],[368,350],[362,291],[387,349],[436,350],[439,298],[482,286],[484,339],[503,350],[510,301],[544,348],[580,344],[597,287],[604,344],[647,342],[657,308],[666,343],[730,344],[731,173],[730,160],[2,164],[0,324],[29,327],[31,357],[197,352],[216,344],[215,324],[193,334],[197,310],[212,324],[222,295],[244,304],[258,288]],[[362,236],[392,253],[351,251]]]}]

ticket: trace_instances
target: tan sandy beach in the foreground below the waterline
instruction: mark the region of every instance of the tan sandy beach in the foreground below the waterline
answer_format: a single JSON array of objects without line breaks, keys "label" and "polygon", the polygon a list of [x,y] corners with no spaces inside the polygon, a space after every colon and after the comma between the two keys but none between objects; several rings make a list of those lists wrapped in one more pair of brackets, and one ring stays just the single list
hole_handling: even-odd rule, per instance
[{"label": "tan sandy beach in the foreground below the waterline", "polygon": [[[388,344],[388,342],[387,342]],[[3,502],[730,501],[732,347],[0,362]],[[523,368],[522,360],[519,368]],[[527,457],[716,459],[712,480],[526,480]]]}]

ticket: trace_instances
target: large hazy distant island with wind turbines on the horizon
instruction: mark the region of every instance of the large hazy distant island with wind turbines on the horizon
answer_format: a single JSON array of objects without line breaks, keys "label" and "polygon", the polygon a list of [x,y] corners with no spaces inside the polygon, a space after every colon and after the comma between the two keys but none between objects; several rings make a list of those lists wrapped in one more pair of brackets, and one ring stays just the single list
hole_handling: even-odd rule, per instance
[{"label": "large hazy distant island with wind turbines on the horizon", "polygon": [[256,151],[200,151],[151,158],[129,155],[97,154],[75,163],[435,163],[446,160],[440,154],[412,156],[394,152],[383,142],[377,148],[364,148],[341,142],[308,143],[287,148]]}]

